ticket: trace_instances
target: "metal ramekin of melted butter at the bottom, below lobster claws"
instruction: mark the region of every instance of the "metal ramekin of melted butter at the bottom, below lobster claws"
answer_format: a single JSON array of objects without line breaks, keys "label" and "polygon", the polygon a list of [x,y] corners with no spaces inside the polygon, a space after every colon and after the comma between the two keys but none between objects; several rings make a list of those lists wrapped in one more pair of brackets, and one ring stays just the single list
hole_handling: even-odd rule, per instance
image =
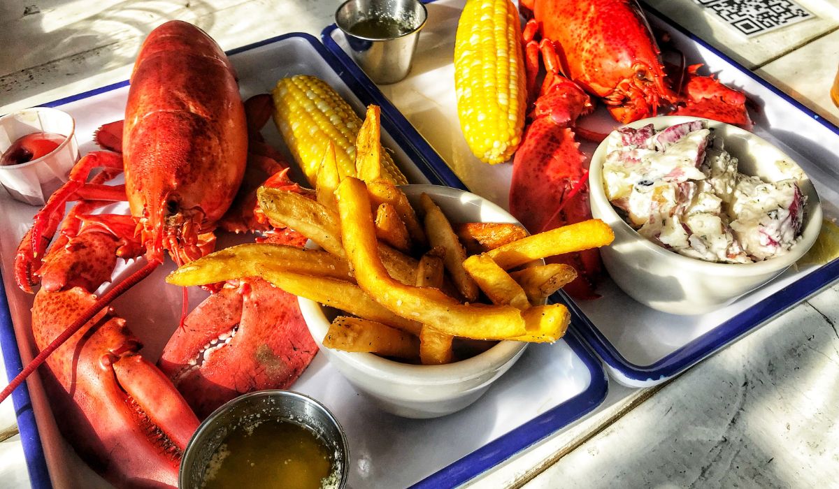
[{"label": "metal ramekin of melted butter at the bottom, below lobster claws", "polygon": [[341,426],[314,399],[261,391],[216,409],[181,461],[181,488],[340,489],[349,450]]}]

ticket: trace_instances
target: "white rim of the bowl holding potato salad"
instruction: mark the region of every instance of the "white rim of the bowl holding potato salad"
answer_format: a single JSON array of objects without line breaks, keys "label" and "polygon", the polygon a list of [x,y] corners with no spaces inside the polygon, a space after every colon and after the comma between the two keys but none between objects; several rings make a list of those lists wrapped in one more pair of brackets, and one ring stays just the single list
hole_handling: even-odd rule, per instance
[{"label": "white rim of the bowl holding potato salad", "polygon": [[[725,122],[715,121],[713,119],[709,119],[707,117],[692,117],[692,116],[658,116],[658,117],[647,117],[645,119],[640,119],[635,122],[630,122],[628,124],[624,124],[621,127],[644,127],[647,124],[653,124],[657,129],[660,125],[666,124],[668,126],[672,126],[678,124],[680,122],[690,122],[690,121],[707,121],[711,126],[717,127],[727,127],[728,131],[734,131],[735,133],[742,133],[746,135],[748,138],[757,139],[761,143],[765,143],[769,145],[769,147],[774,148],[780,156],[784,159],[789,161],[791,164],[795,164],[795,167],[801,170],[803,174],[805,174],[804,170],[801,169],[800,165],[789,157],[787,153],[781,151],[780,148],[775,146],[773,143],[769,143],[766,139],[761,138],[755,133],[751,133],[742,127],[737,127],[732,124],[727,124]],[[614,129],[617,131],[618,129]],[[609,133],[611,134],[611,133]],[[679,266],[685,268],[708,268],[710,271],[714,273],[721,273],[725,275],[733,275],[738,274],[742,275],[744,272],[747,275],[759,275],[762,273],[770,273],[773,270],[780,270],[782,268],[789,267],[793,263],[797,262],[804,254],[812,247],[812,245],[816,242],[816,238],[819,237],[819,233],[821,231],[821,220],[822,220],[822,210],[821,210],[821,199],[819,198],[818,193],[816,193],[816,188],[813,186],[812,182],[810,181],[809,175],[806,176],[804,185],[810,187],[810,192],[805,192],[805,195],[808,195],[808,201],[806,204],[807,207],[807,217],[808,221],[804,228],[801,231],[800,241],[795,243],[795,247],[790,252],[781,255],[779,257],[769,258],[767,260],[763,260],[761,262],[753,262],[753,263],[718,263],[718,262],[706,262],[705,260],[701,260],[700,258],[690,258],[685,257],[685,255],[681,255],[680,253],[673,252],[668,250],[667,248],[660,247],[659,245],[651,242],[646,237],[643,237],[633,229],[632,226],[629,226],[627,221],[624,221],[621,216],[618,215],[618,212],[615,211],[614,207],[612,206],[612,202],[610,202],[606,197],[606,192],[603,190],[602,185],[602,162],[606,158],[606,146],[608,137],[603,139],[603,141],[597,146],[597,150],[591,156],[591,164],[589,169],[589,194],[591,195],[591,199],[597,199],[599,203],[605,202],[606,205],[604,206],[607,209],[607,214],[610,218],[612,218],[612,222],[608,222],[609,226],[622,226],[623,231],[632,231],[636,237],[638,237],[638,242],[643,242],[641,246],[644,249],[648,250],[649,252],[654,252],[654,254],[658,255],[662,259],[670,259],[675,260]],[[805,174],[806,175],[806,174]],[[803,190],[803,189],[802,189]],[[810,201],[812,200],[811,197],[815,196],[815,202]]]}]

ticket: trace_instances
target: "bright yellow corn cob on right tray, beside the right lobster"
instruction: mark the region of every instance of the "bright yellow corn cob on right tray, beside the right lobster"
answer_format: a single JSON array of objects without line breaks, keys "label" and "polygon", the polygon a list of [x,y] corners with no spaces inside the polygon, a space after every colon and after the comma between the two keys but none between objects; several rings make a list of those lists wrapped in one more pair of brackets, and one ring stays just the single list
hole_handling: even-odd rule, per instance
[{"label": "bright yellow corn cob on right tray, beside the right lobster", "polygon": [[519,148],[524,128],[524,55],[510,0],[467,0],[455,39],[457,115],[466,143],[489,164]]}]

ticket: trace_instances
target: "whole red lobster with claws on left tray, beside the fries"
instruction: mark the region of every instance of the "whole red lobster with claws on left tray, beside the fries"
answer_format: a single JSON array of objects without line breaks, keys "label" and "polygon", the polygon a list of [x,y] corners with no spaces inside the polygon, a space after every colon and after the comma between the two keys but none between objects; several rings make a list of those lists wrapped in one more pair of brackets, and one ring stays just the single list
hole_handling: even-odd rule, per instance
[{"label": "whole red lobster with claws on left tray, beside the fries", "polygon": [[[121,138],[114,133],[119,127]],[[180,265],[212,251],[213,231],[240,190],[248,160],[268,173],[280,169],[266,163],[260,138],[252,139],[263,154],[249,159],[248,124],[227,56],[201,29],[180,21],[164,23],[140,49],[124,127],[109,125],[97,135],[105,146],[121,146],[122,154],[94,152],[82,158],[18,247],[18,285],[31,291],[41,284],[32,315],[40,353],[0,400],[45,360],[49,368],[44,384],[60,429],[117,486],[176,486],[180,456],[198,419],[169,378],[140,356],[139,341],[108,304],[163,263],[164,252]],[[91,177],[95,169],[101,171]],[[125,185],[105,185],[121,173]],[[269,181],[288,185],[284,173]],[[64,216],[65,203],[73,200],[79,202]],[[131,216],[91,213],[119,200],[128,200]],[[247,196],[237,200],[250,201],[253,210]],[[231,226],[247,224],[237,222]],[[59,235],[46,251],[56,231]],[[111,281],[117,258],[141,256],[147,261],[142,268],[96,297],[95,291]],[[268,382],[264,372],[254,372],[253,382],[237,381],[232,388],[227,385],[231,382],[220,380],[223,392],[206,393],[212,401],[201,404],[204,414],[239,392],[266,384],[287,387],[316,351],[310,338],[297,335],[305,331],[305,323],[293,296],[268,292],[258,283],[245,282],[233,290],[233,296],[228,291],[220,297],[232,308],[224,312],[236,324],[223,326],[237,327],[237,344],[243,348],[237,354],[247,358],[259,350],[281,372]],[[253,290],[257,292],[251,294]],[[243,304],[253,303],[273,304],[279,313],[270,319],[287,323],[296,344],[281,337],[254,341],[253,335],[264,331],[248,322],[264,322],[266,314],[254,318],[242,312],[253,310]],[[211,306],[202,311],[217,312]],[[217,327],[193,327],[211,322],[201,314],[190,315],[183,329],[186,335],[203,335],[198,344],[174,347],[185,358],[200,356],[201,346],[211,341],[207,336],[225,334]]]}]

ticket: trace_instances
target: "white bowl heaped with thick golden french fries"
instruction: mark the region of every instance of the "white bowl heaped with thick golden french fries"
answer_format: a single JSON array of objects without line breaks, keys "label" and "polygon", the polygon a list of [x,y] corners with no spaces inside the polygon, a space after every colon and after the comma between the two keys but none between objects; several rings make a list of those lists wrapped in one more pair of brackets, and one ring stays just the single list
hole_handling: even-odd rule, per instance
[{"label": "white bowl heaped with thick golden french fries", "polygon": [[314,190],[261,187],[275,227],[310,240],[230,247],[170,274],[177,285],[258,276],[299,297],[331,365],[380,408],[434,418],[466,408],[530,342],[550,343],[570,321],[546,299],[576,277],[544,258],[612,241],[599,220],[529,236],[489,200],[439,185],[397,185],[383,171],[378,107],[357,136],[355,174],[335,147]]}]

